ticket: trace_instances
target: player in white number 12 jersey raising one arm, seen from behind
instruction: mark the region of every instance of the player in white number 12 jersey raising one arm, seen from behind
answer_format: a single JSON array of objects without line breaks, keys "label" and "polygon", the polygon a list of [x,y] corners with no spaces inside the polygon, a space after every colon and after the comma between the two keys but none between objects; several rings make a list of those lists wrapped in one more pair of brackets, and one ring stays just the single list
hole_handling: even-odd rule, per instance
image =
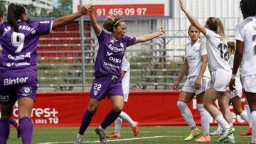
[{"label": "player in white number 12 jersey raising one arm, seen from behind", "polygon": [[[206,27],[204,27],[186,10],[182,0],[179,0],[179,5],[191,24],[206,35],[208,60],[213,72],[210,88],[206,90],[204,95],[203,106],[223,128],[223,135],[220,136],[218,141],[234,140],[235,128],[233,128],[232,115],[229,109],[230,90],[228,89],[231,67],[228,65],[228,45],[225,42],[223,23],[219,18],[210,17],[206,21]],[[213,105],[217,99],[220,101],[221,112]],[[231,136],[228,138],[229,135]]]}]

